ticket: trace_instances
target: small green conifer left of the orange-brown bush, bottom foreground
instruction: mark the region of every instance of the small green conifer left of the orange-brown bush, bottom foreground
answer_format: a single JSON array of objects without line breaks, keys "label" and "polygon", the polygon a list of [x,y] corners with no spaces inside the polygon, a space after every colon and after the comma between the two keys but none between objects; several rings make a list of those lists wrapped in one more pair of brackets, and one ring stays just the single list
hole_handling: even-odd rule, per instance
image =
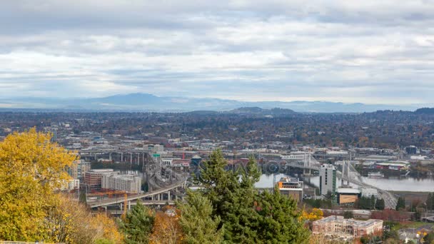
[{"label": "small green conifer left of the orange-brown bush, bottom foreground", "polygon": [[125,219],[119,222],[125,233],[125,243],[148,243],[154,220],[154,213],[138,200],[133,209],[126,213]]}]

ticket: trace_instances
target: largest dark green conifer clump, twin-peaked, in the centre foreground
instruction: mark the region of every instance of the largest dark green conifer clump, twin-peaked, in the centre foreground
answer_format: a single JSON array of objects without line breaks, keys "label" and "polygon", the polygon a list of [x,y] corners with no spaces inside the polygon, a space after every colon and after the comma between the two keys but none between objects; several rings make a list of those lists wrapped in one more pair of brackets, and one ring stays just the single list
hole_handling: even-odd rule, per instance
[{"label": "largest dark green conifer clump, twin-peaked, in the centre foreground", "polygon": [[220,150],[203,163],[196,183],[200,193],[210,200],[213,218],[221,218],[224,241],[228,243],[305,243],[308,230],[299,220],[296,201],[274,193],[258,193],[254,184],[261,172],[251,158],[246,170],[225,171]]}]

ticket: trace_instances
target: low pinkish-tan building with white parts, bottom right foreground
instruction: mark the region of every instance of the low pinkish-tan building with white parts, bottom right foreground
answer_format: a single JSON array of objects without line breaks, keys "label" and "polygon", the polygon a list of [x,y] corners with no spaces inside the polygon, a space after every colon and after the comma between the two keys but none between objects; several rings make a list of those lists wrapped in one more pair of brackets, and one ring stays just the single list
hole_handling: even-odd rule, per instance
[{"label": "low pinkish-tan building with white parts, bottom right foreground", "polygon": [[343,238],[360,238],[363,235],[382,235],[383,220],[355,220],[345,219],[343,216],[331,215],[312,223],[312,233],[338,235]]}]

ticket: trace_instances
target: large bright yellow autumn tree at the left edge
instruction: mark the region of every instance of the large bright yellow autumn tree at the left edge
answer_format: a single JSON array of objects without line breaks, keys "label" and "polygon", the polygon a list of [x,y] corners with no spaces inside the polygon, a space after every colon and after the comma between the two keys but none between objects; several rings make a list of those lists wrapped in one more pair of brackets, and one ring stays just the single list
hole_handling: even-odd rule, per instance
[{"label": "large bright yellow autumn tree at the left edge", "polygon": [[76,156],[31,128],[0,142],[0,240],[46,240],[46,208]]}]

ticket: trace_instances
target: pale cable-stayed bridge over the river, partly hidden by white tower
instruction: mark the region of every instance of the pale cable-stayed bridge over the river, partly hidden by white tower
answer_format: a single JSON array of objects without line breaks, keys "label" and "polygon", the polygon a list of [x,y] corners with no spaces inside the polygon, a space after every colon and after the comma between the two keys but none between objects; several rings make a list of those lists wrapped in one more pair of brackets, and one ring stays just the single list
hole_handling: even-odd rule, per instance
[{"label": "pale cable-stayed bridge over the river, partly hidden by white tower", "polygon": [[[285,164],[287,167],[303,168],[303,173],[305,175],[311,175],[311,171],[320,171],[321,168],[321,163],[318,162],[316,158],[313,158],[311,153],[282,156],[281,164]],[[395,195],[387,190],[382,190],[374,185],[364,183],[360,173],[355,170],[354,166],[349,161],[344,161],[342,168],[343,172],[336,171],[337,178],[360,187],[376,189],[380,198],[383,198],[385,201],[385,208],[395,209],[395,206],[398,203]]]}]

